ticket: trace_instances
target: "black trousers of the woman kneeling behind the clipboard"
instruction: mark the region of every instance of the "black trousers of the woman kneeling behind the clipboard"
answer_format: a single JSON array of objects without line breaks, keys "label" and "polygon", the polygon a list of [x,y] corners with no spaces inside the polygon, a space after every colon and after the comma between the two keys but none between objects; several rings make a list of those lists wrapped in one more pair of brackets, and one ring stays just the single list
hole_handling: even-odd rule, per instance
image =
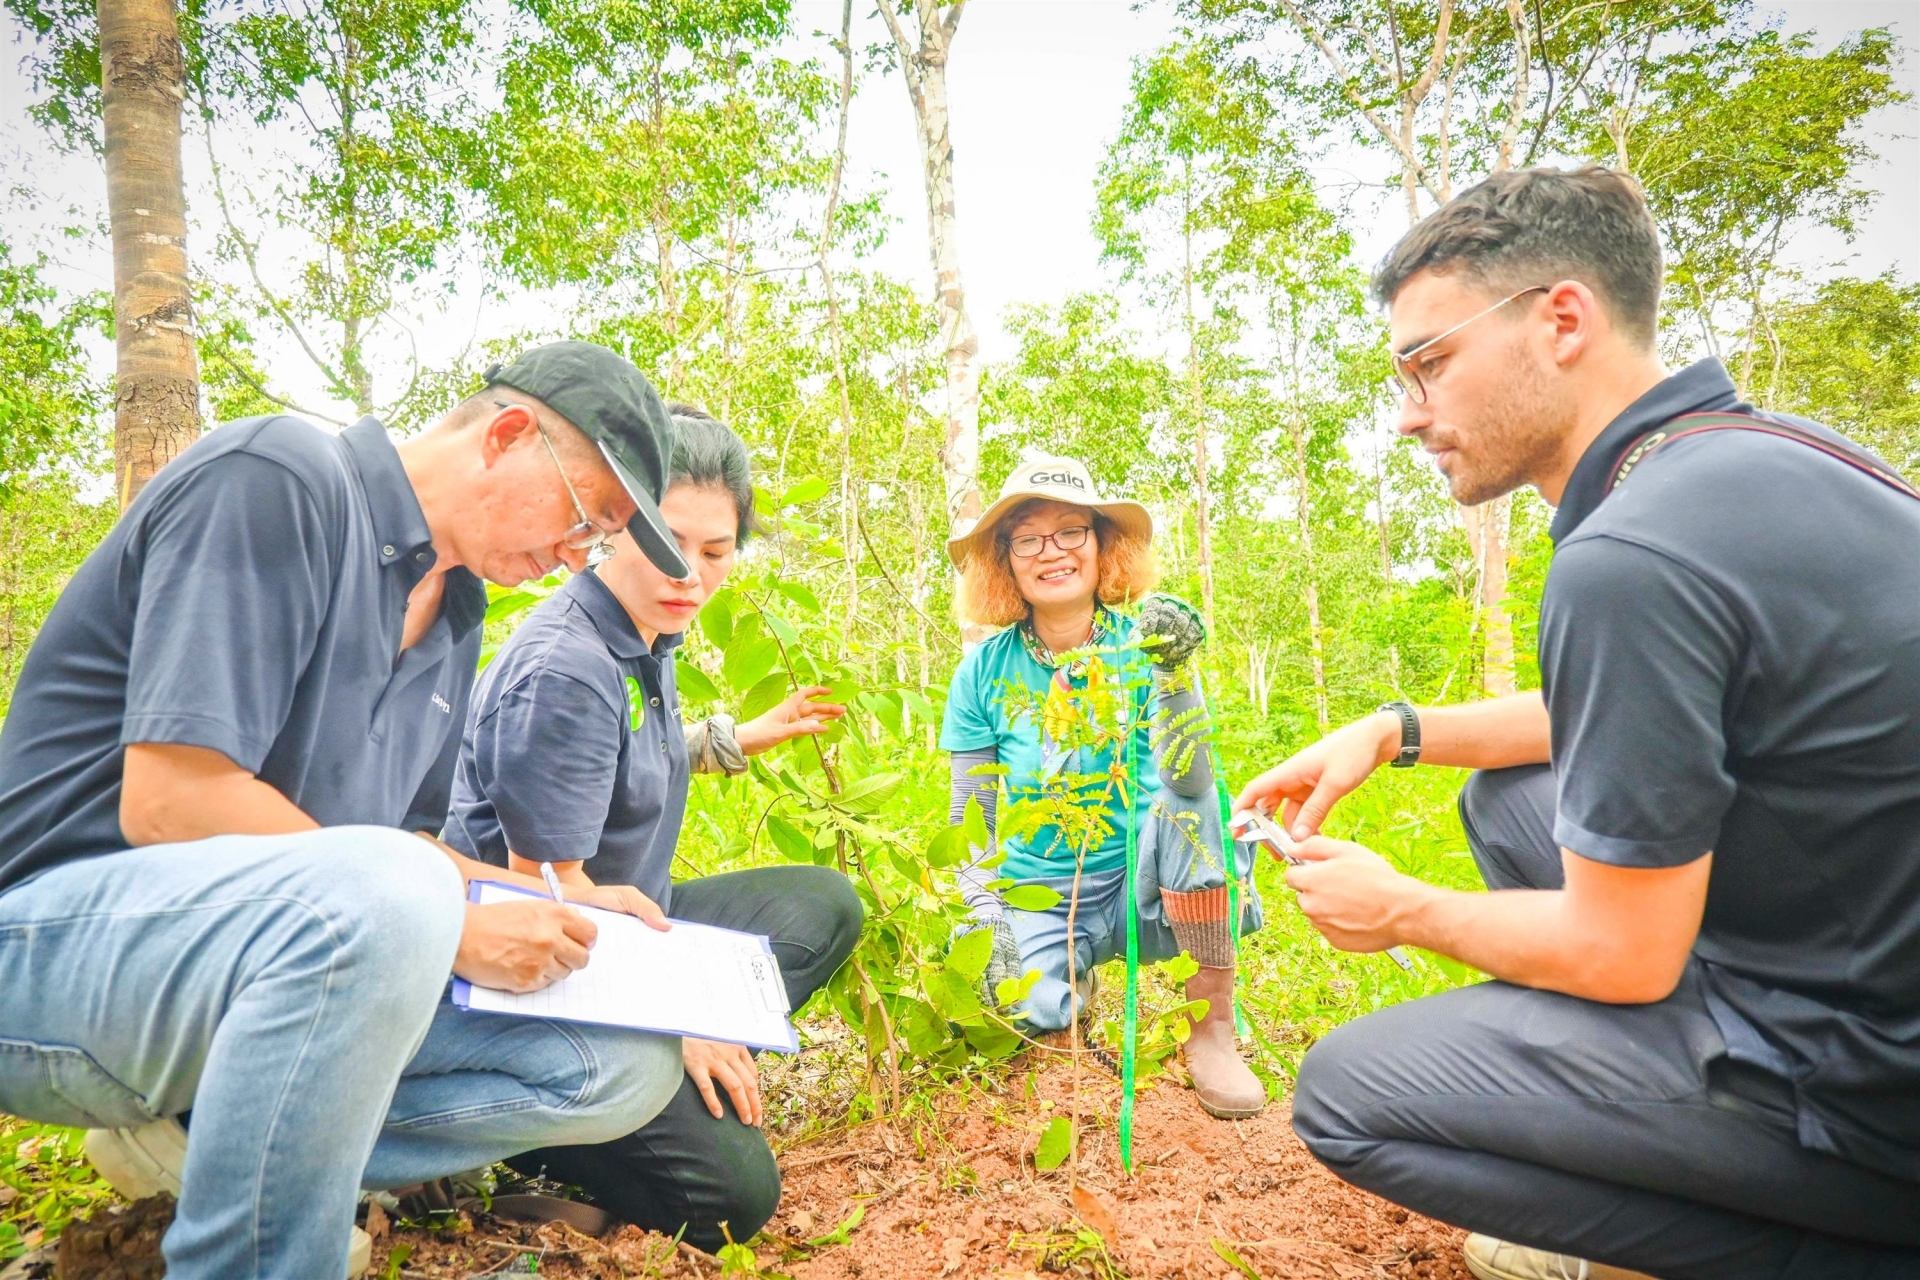
[{"label": "black trousers of the woman kneeling behind the clipboard", "polygon": [[[758,867],[674,885],[672,915],[703,925],[764,933],[774,942],[787,998],[799,1009],[860,940],[864,910],[847,877],[831,867]],[[599,1146],[540,1148],[507,1161],[515,1171],[568,1182],[609,1213],[708,1253],[749,1240],[780,1205],[780,1169],[766,1134],[741,1123],[720,1094],[714,1119],[693,1080],[645,1128]]]}]

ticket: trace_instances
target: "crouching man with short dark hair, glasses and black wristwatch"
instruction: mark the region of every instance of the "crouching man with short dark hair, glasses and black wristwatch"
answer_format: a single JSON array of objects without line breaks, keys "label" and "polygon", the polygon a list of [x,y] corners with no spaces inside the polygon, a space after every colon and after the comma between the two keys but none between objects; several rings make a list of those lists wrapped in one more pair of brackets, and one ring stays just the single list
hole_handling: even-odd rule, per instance
[{"label": "crouching man with short dark hair, glasses and black wristwatch", "polygon": [[1536,486],[1555,558],[1542,695],[1386,708],[1240,796],[1309,835],[1380,764],[1478,770],[1500,890],[1304,842],[1336,946],[1498,981],[1327,1036],[1294,1128],[1486,1232],[1482,1278],[1920,1274],[1920,499],[1824,428],[1686,416],[1751,409],[1661,368],[1624,177],[1490,178],[1375,288],[1400,430],[1461,503]]}]

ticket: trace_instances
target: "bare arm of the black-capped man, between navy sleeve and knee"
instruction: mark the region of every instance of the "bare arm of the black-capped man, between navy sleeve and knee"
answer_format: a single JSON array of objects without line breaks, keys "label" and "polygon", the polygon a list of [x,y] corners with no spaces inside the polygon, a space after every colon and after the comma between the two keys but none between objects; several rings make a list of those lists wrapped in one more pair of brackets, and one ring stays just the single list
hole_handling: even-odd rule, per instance
[{"label": "bare arm of the black-capped man, between navy sleeve and knee", "polygon": [[121,835],[134,848],[215,835],[317,831],[305,810],[205,747],[134,743],[121,770]]}]

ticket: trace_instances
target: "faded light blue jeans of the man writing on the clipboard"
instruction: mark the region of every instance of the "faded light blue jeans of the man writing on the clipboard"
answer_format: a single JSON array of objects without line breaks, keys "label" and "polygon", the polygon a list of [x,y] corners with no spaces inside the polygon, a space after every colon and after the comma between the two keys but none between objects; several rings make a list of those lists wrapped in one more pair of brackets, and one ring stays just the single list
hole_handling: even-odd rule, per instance
[{"label": "faded light blue jeans of the man writing on the clipboard", "polygon": [[0,1111],[192,1109],[173,1280],[340,1280],[353,1201],[639,1128],[680,1040],[445,1000],[453,864],[388,827],[69,862],[0,894]]}]

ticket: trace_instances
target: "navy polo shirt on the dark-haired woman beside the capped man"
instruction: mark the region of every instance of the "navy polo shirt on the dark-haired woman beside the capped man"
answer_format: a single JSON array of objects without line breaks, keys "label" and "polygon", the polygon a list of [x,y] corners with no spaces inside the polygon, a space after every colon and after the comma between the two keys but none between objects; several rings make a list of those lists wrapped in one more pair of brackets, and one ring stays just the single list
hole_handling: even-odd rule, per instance
[{"label": "navy polo shirt on the dark-haired woman beside the capped man", "polygon": [[595,574],[568,578],[480,674],[447,844],[497,867],[509,848],[586,860],[593,883],[634,885],[666,910],[687,812],[678,645],[649,647]]}]

